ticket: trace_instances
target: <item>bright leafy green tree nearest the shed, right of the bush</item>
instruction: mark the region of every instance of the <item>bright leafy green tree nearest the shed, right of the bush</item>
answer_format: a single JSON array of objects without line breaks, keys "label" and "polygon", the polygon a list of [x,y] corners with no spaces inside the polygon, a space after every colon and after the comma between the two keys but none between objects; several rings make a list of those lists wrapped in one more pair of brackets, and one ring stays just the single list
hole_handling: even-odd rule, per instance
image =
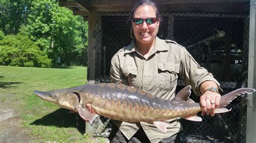
[{"label": "bright leafy green tree nearest the shed, right of the bush", "polygon": [[56,1],[43,0],[33,1],[26,31],[53,63],[60,57],[65,65],[86,65],[86,26],[82,17],[73,16]]}]

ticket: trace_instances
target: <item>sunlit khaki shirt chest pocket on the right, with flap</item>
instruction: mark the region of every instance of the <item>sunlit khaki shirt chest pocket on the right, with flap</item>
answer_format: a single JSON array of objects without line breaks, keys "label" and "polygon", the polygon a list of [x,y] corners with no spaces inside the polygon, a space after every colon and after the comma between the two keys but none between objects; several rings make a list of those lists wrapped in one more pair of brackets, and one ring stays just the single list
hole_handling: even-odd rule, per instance
[{"label": "sunlit khaki shirt chest pocket on the right, with flap", "polygon": [[159,89],[170,90],[177,84],[179,64],[165,62],[158,64]]}]

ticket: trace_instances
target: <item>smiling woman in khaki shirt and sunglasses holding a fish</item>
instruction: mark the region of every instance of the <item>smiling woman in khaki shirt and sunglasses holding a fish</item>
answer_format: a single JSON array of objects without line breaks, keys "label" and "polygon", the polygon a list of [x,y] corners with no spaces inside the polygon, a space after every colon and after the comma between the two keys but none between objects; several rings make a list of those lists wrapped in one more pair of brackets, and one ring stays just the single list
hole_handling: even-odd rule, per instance
[{"label": "smiling woman in khaki shirt and sunglasses holding a fish", "polygon": [[[143,89],[164,99],[174,98],[177,78],[191,85],[200,95],[202,115],[214,116],[220,95],[219,83],[202,68],[186,51],[174,41],[156,37],[160,24],[157,6],[150,0],[138,2],[130,15],[132,23],[129,46],[118,51],[111,60],[111,80]],[[148,123],[126,123],[113,120],[111,142],[173,142],[182,130],[178,119],[170,122],[167,132]]]}]

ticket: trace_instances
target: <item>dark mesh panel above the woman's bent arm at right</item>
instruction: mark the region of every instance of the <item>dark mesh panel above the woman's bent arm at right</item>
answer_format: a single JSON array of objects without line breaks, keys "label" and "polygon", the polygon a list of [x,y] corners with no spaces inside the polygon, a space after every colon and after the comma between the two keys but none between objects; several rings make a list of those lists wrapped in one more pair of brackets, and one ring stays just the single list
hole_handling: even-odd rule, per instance
[{"label": "dark mesh panel above the woman's bent arm at right", "polygon": [[241,82],[243,18],[174,17],[174,39],[219,81]]}]

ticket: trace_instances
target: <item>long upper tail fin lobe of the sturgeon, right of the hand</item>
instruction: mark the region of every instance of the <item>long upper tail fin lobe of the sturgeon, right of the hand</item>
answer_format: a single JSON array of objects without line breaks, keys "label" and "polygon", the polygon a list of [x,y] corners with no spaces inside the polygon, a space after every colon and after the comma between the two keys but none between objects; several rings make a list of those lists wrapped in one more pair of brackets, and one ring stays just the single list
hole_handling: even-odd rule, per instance
[{"label": "long upper tail fin lobe of the sturgeon, right of the hand", "polygon": [[254,91],[255,89],[252,88],[239,88],[237,90],[229,92],[228,94],[221,96],[218,108],[224,108],[226,105],[230,104],[233,99],[237,98],[241,94],[251,94]]}]

